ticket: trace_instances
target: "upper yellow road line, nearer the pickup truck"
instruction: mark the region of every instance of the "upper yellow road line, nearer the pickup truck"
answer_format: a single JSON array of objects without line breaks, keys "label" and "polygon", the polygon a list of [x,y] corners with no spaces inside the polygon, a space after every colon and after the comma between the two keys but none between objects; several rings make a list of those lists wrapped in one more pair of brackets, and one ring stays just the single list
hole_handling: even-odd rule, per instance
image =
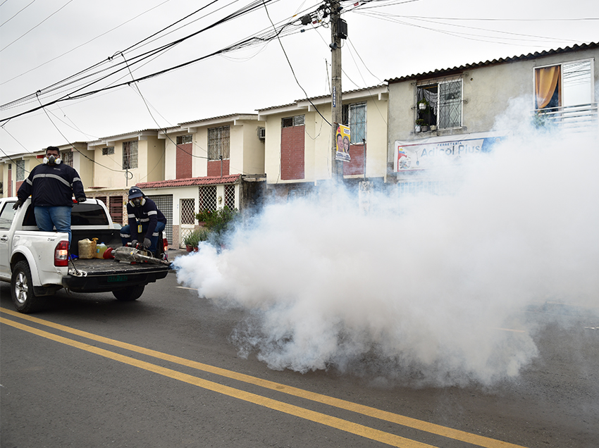
[{"label": "upper yellow road line, nearer the pickup truck", "polygon": [[136,353],[145,354],[147,356],[153,356],[154,358],[163,359],[164,361],[170,361],[172,363],[177,363],[182,366],[196,368],[200,371],[214,373],[215,375],[221,375],[226,378],[231,378],[233,380],[247,382],[252,385],[265,387],[266,389],[277,390],[278,392],[290,394],[295,397],[309,399],[313,402],[328,404],[329,406],[334,406],[334,407],[337,407],[340,409],[345,409],[347,411],[361,413],[364,416],[378,418],[379,420],[384,420],[384,421],[388,421],[391,423],[397,423],[398,425],[408,426],[409,428],[426,431],[427,433],[441,435],[443,437],[449,437],[451,439],[460,440],[462,442],[475,444],[475,445],[478,445],[479,447],[523,448],[520,445],[502,442],[501,440],[491,439],[490,437],[484,437],[482,435],[467,433],[462,430],[447,428],[442,425],[436,425],[435,423],[428,423],[426,421],[421,421],[416,418],[401,416],[401,415],[399,415],[397,413],[393,413],[393,412],[381,411],[381,409],[376,409],[376,408],[373,408],[370,406],[364,406],[362,404],[347,402],[342,399],[328,397],[327,395],[317,394],[316,392],[309,392],[307,390],[299,389],[297,387],[283,385],[278,382],[263,380],[261,378],[256,378],[256,377],[253,377],[250,375],[245,375],[243,373],[228,371],[224,368],[209,366],[208,364],[199,363],[197,361],[191,361],[191,360],[185,359],[185,358],[180,358],[179,356],[173,356],[170,354],[161,353],[160,351],[146,349],[144,347],[139,347],[137,345],[127,344],[126,342],[111,340],[107,337],[102,337],[102,336],[94,335],[89,332],[76,330],[75,328],[66,327],[65,325],[60,325],[58,323],[44,321],[42,319],[35,318],[33,316],[27,316],[25,314],[17,313],[16,311],[11,311],[11,310],[4,309],[4,308],[0,308],[0,311],[2,311],[4,313],[8,313],[11,316],[23,318],[27,321],[31,321],[31,322],[39,323],[41,325],[46,325],[51,328],[55,328],[56,330],[61,330],[61,331],[68,332],[73,335],[78,335],[81,337],[87,337],[88,339],[95,340],[97,342],[103,342],[104,344],[113,345],[114,347],[120,347],[120,348],[127,349],[130,351],[135,351]]}]

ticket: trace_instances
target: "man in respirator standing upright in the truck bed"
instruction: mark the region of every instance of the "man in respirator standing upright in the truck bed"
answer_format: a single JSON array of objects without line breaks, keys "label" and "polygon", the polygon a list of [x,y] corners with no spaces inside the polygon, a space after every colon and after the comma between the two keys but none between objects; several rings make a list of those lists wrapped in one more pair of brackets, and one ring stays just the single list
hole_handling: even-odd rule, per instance
[{"label": "man in respirator standing upright in the truck bed", "polygon": [[29,177],[17,192],[18,201],[13,209],[23,205],[31,195],[35,222],[39,230],[68,233],[70,244],[70,212],[73,209],[73,196],[78,202],[85,201],[83,184],[75,168],[61,163],[60,150],[47,147],[42,165],[31,170]]}]

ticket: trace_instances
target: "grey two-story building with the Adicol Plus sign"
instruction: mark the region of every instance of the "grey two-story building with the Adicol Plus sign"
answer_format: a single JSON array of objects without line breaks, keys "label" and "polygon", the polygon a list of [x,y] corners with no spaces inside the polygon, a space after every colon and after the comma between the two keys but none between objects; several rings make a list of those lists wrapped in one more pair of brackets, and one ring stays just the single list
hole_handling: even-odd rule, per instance
[{"label": "grey two-story building with the Adicol Plus sign", "polygon": [[598,57],[599,44],[581,44],[388,80],[398,192],[445,188],[440,173],[431,182],[431,169],[490,150],[509,134],[496,120],[515,100],[536,125],[596,132]]}]

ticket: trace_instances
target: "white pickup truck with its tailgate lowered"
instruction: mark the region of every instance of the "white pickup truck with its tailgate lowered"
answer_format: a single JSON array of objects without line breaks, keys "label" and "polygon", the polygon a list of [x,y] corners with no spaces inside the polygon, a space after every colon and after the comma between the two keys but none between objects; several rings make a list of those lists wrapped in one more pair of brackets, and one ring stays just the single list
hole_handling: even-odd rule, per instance
[{"label": "white pickup truck with its tailgate lowered", "polygon": [[116,299],[141,297],[149,282],[165,278],[168,266],[119,263],[112,259],[73,259],[80,239],[98,238],[109,247],[121,246],[119,230],[102,201],[73,204],[72,244],[63,232],[42,232],[35,224],[31,198],[14,210],[16,197],[0,198],[0,280],[11,282],[18,311],[39,309],[44,296],[66,288],[73,292],[112,292]]}]

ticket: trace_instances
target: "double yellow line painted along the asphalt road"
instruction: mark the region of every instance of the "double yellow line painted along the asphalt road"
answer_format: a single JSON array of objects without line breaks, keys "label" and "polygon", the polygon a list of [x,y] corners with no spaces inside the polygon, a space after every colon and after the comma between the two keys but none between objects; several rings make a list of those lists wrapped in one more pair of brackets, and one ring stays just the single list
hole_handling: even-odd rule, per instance
[{"label": "double yellow line painted along the asphalt road", "polygon": [[[346,411],[360,413],[364,416],[378,418],[379,420],[388,421],[391,423],[397,423],[398,425],[407,426],[409,428],[414,428],[417,430],[425,431],[427,433],[432,433],[432,434],[440,435],[443,437],[449,437],[454,440],[460,440],[462,442],[467,442],[469,444],[478,445],[479,447],[522,448],[519,445],[502,442],[500,440],[490,439],[489,437],[483,437],[481,435],[466,433],[464,431],[447,428],[445,426],[436,425],[434,423],[428,423],[426,421],[417,420],[416,418],[410,418],[410,417],[401,416],[399,414],[392,413],[392,412],[381,411],[380,409],[372,408],[370,406],[364,406],[362,404],[347,402],[342,399],[336,399],[333,397],[328,397],[326,395],[317,394],[315,392],[309,392],[307,390],[302,390],[297,387],[290,387],[287,385],[280,384],[278,382],[263,380],[261,378],[256,378],[256,377],[253,377],[250,375],[244,375],[243,373],[228,371],[223,368],[209,366],[208,364],[199,363],[197,361],[191,361],[190,359],[180,358],[179,356],[173,356],[170,354],[162,353],[160,351],[154,351],[154,350],[146,349],[144,347],[140,347],[137,345],[127,344],[126,342],[112,340],[112,339],[109,339],[108,337],[102,337],[99,335],[94,335],[89,332],[76,330],[75,328],[70,328],[65,325],[60,325],[58,323],[53,323],[53,322],[45,321],[43,319],[35,318],[32,316],[27,316],[24,314],[16,313],[15,311],[11,311],[8,309],[0,308],[0,311],[8,314],[10,316],[13,316],[13,317],[21,318],[25,321],[30,321],[32,323],[36,323],[39,325],[45,325],[49,328],[54,328],[55,330],[60,330],[60,331],[69,333],[71,335],[76,335],[78,337],[85,337],[86,339],[96,341],[96,342],[101,342],[103,344],[108,344],[113,347],[119,347],[121,349],[133,351],[138,354],[152,356],[156,359],[161,359],[163,361],[169,361],[171,363],[179,364],[181,366],[187,366],[190,368],[197,369],[199,371],[204,371],[207,373],[214,373],[215,375],[220,375],[220,376],[223,376],[226,378],[231,378],[233,380],[246,382],[246,383],[252,384],[252,385],[257,385],[259,387],[264,387],[266,389],[276,390],[277,392],[283,392],[285,394],[289,394],[294,397],[300,397],[303,399],[311,400],[313,402],[327,404],[329,406],[334,406],[338,409],[344,409]],[[173,378],[175,380],[187,382],[189,384],[192,384],[192,385],[195,385],[198,387],[202,387],[206,390],[211,390],[214,392],[218,392],[219,394],[228,395],[229,397],[235,397],[237,399],[244,400],[245,402],[258,404],[259,406],[264,406],[269,409],[274,409],[276,411],[288,413],[292,416],[304,418],[305,420],[313,421],[316,423],[321,423],[323,425],[327,425],[327,426],[330,426],[331,428],[336,428],[338,430],[342,430],[347,433],[352,433],[355,435],[369,438],[371,440],[383,442],[392,447],[403,447],[403,448],[425,448],[425,447],[431,448],[432,447],[429,444],[416,442],[415,440],[407,439],[405,437],[400,437],[395,434],[385,433],[384,431],[381,431],[381,430],[376,430],[374,428],[369,428],[368,426],[359,425],[357,423],[352,423],[350,421],[342,420],[341,418],[328,416],[324,413],[310,411],[309,409],[304,409],[300,406],[294,406],[292,404],[279,402],[278,400],[275,400],[275,399],[262,397],[261,395],[258,395],[258,394],[252,394],[250,392],[245,392],[244,390],[235,389],[234,387],[221,385],[221,384],[218,384],[217,382],[203,380],[202,378],[197,378],[193,375],[187,375],[186,373],[174,371],[170,368],[156,366],[155,364],[148,363],[145,361],[140,361],[139,359],[135,359],[130,356],[124,356],[122,354],[118,354],[113,351],[101,349],[99,347],[94,347],[92,345],[85,344],[83,342],[79,342],[76,340],[68,339],[66,337],[54,335],[54,333],[50,333],[50,332],[47,332],[44,330],[39,330],[37,328],[33,328],[28,325],[24,325],[23,323],[19,323],[17,321],[9,320],[6,318],[0,318],[0,322],[4,323],[6,325],[11,325],[12,327],[18,328],[19,330],[27,331],[34,335],[38,335],[41,337],[45,337],[49,340],[54,340],[56,342],[60,342],[61,344],[70,345],[71,347],[76,347],[78,349],[89,351],[89,353],[94,353],[99,356],[104,356],[105,358],[108,358],[108,359],[113,359],[114,361],[119,361],[121,363],[125,363],[130,366],[142,368],[146,371],[158,373],[159,375],[163,375],[168,378]]]}]

